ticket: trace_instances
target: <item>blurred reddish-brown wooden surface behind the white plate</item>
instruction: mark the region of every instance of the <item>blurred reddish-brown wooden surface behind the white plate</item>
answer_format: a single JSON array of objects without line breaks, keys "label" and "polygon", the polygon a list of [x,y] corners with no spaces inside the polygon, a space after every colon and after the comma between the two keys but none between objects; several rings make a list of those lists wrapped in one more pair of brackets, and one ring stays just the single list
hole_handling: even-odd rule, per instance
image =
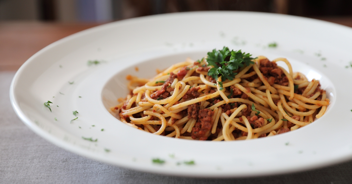
[{"label": "blurred reddish-brown wooden surface behind the white plate", "polygon": [[[352,17],[314,17],[352,27]],[[0,71],[16,71],[34,53],[98,23],[0,22]]]}]

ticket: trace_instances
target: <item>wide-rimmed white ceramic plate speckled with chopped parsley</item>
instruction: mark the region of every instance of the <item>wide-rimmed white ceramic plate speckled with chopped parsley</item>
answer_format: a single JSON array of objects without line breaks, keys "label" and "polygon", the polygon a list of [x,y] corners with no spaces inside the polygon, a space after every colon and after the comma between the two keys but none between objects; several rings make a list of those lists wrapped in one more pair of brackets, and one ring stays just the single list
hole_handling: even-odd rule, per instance
[{"label": "wide-rimmed white ceramic plate speckled with chopped parsley", "polygon": [[[278,46],[268,47],[272,42]],[[196,177],[301,171],[352,158],[351,43],[351,28],[288,15],[196,12],[135,18],[90,28],[45,47],[18,70],[10,96],[20,119],[38,135],[106,163]],[[326,114],[274,137],[210,142],[139,131],[109,113],[116,99],[127,94],[127,74],[152,77],[157,68],[186,57],[200,59],[223,46],[269,59],[288,58],[294,71],[321,81],[331,100]],[[103,62],[87,65],[95,59]],[[43,106],[48,100],[52,112]],[[73,120],[75,110],[78,119]],[[153,164],[153,158],[165,163]],[[183,164],[190,160],[195,165]]]}]

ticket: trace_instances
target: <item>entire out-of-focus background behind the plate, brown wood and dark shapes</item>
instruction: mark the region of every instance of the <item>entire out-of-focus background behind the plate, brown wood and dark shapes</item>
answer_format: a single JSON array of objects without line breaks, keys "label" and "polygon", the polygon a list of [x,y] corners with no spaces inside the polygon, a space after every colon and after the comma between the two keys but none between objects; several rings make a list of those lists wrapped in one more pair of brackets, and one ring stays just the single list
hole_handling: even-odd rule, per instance
[{"label": "entire out-of-focus background behind the plate, brown wood and dark shapes", "polygon": [[298,15],[352,27],[352,0],[0,0],[0,71],[56,40],[103,23],[188,11]]}]

